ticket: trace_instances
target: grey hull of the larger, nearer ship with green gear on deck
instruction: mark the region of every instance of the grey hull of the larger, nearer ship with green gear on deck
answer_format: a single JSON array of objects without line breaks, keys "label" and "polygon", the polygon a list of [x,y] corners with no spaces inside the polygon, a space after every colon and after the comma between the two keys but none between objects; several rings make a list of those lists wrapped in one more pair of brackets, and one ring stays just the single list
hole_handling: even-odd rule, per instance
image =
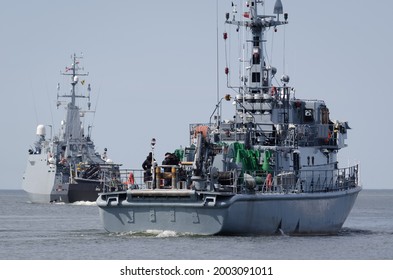
[{"label": "grey hull of the larger, nearer ship with green gear on deck", "polygon": [[[209,195],[208,200],[133,200],[100,196],[108,232],[170,230],[200,235],[335,234],[348,217],[360,187],[331,193]],[[123,198],[122,198],[123,197]]]}]

